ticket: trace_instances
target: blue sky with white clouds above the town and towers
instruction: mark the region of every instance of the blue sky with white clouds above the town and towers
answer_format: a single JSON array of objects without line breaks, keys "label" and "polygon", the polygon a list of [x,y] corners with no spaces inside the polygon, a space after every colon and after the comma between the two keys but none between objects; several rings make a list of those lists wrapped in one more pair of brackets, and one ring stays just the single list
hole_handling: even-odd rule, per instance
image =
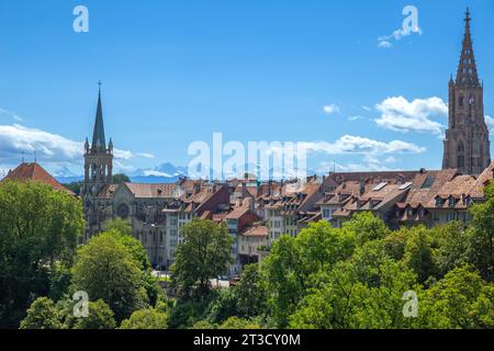
[{"label": "blue sky with white clouds above the town and towers", "polygon": [[[72,30],[78,4],[89,33]],[[420,34],[380,47],[407,4]],[[491,0],[2,0],[0,168],[37,149],[48,170],[82,173],[76,143],[91,134],[101,79],[106,136],[128,172],[187,166],[190,143],[214,132],[315,143],[317,171],[438,169],[467,5],[494,116]]]}]

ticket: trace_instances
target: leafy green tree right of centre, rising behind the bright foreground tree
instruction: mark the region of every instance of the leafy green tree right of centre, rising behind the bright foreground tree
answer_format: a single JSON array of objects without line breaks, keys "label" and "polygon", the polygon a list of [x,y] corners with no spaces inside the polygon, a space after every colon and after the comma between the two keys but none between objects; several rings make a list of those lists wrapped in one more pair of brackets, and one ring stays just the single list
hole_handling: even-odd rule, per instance
[{"label": "leafy green tree right of centre, rising behind the bright foreground tree", "polygon": [[268,307],[279,327],[287,326],[299,302],[318,284],[314,279],[318,272],[349,258],[356,244],[351,225],[341,230],[323,220],[311,224],[296,238],[282,236],[273,242],[261,271]]}]

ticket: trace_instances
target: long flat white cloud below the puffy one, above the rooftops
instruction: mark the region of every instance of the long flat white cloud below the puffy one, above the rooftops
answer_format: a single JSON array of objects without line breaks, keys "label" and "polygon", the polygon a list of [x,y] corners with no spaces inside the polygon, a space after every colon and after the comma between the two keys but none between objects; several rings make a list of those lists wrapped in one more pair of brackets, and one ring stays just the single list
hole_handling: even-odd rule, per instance
[{"label": "long flat white cloud below the puffy one, above the rooftops", "polygon": [[426,150],[424,147],[402,140],[385,143],[352,135],[345,135],[335,143],[305,141],[300,145],[307,152],[323,152],[328,155],[422,154]]}]

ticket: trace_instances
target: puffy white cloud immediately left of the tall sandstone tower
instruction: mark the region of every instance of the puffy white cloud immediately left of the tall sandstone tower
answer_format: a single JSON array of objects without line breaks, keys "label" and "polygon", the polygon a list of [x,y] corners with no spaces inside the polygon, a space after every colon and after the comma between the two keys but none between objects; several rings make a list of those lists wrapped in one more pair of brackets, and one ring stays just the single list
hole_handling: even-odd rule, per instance
[{"label": "puffy white cloud immediately left of the tall sandstone tower", "polygon": [[374,122],[395,132],[425,132],[441,135],[444,126],[431,116],[447,116],[448,105],[440,98],[416,99],[388,98],[375,105],[381,116]]}]

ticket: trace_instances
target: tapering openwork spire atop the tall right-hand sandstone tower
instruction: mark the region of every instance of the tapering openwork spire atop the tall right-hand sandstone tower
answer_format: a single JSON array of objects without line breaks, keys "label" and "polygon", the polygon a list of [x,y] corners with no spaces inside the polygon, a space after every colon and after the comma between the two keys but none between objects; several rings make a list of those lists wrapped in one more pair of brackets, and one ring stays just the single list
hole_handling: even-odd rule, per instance
[{"label": "tapering openwork spire atop the tall right-hand sandstone tower", "polygon": [[457,84],[461,86],[479,86],[479,73],[476,70],[475,57],[473,55],[473,43],[470,33],[470,9],[467,8],[464,18],[464,37],[463,47],[461,49],[460,65],[457,73]]}]

